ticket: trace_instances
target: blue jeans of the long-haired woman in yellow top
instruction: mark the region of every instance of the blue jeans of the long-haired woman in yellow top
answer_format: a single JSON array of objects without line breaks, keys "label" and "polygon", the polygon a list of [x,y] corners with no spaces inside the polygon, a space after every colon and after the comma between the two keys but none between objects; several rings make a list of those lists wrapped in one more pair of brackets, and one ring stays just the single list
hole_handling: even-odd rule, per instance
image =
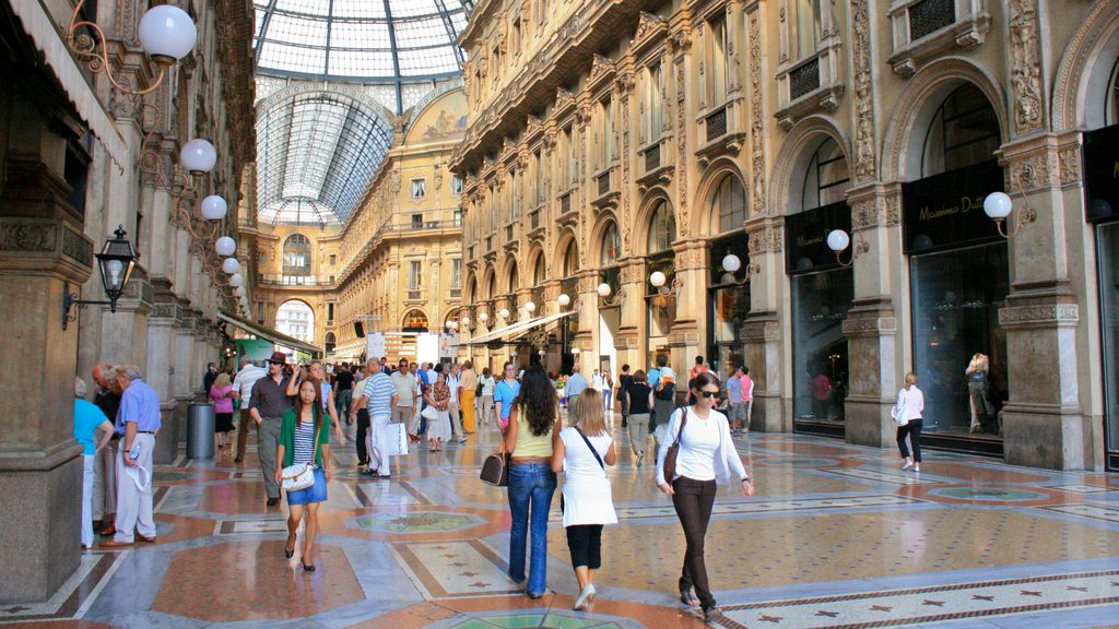
[{"label": "blue jeans of the long-haired woman in yellow top", "polygon": [[509,466],[509,579],[525,580],[525,546],[532,523],[533,556],[529,564],[528,594],[543,594],[547,588],[548,510],[556,490],[556,473],[543,464]]}]

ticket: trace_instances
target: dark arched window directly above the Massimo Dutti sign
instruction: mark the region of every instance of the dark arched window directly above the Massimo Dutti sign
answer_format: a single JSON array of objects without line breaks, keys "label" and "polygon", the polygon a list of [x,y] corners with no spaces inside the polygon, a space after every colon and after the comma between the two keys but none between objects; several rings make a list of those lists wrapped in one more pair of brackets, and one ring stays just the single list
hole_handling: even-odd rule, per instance
[{"label": "dark arched window directly above the Massimo Dutti sign", "polygon": [[929,125],[921,177],[988,161],[998,144],[995,109],[978,87],[966,83],[944,98]]}]

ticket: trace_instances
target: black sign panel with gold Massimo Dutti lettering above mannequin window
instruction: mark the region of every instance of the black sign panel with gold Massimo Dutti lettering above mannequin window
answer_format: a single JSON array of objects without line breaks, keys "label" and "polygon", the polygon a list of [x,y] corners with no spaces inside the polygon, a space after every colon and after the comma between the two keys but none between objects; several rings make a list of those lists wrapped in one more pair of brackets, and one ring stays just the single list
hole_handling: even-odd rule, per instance
[{"label": "black sign panel with gold Massimo Dutti lettering above mannequin window", "polygon": [[905,253],[932,253],[1000,240],[982,201],[1003,187],[1003,169],[996,160],[902,184]]}]

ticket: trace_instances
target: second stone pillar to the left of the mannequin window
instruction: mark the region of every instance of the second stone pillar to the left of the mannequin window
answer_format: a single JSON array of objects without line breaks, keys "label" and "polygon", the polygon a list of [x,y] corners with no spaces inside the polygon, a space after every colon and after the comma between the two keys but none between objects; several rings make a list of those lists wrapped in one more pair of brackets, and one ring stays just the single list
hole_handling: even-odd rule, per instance
[{"label": "second stone pillar to the left of the mannequin window", "polygon": [[[751,265],[750,313],[743,323],[745,360],[754,381],[750,430],[792,432],[788,338],[788,282],[784,275],[784,219],[758,215],[746,222]],[[747,270],[749,273],[749,270]]]}]

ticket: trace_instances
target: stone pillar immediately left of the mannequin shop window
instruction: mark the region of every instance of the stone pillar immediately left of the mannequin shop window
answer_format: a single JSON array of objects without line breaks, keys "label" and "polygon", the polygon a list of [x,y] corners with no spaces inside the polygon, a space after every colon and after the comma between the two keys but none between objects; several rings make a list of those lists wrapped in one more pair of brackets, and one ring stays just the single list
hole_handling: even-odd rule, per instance
[{"label": "stone pillar immediately left of the mannequin shop window", "polygon": [[[847,337],[847,443],[886,447],[896,429],[888,421],[904,363],[897,348],[897,317],[892,295],[909,294],[895,252],[901,251],[901,189],[868,185],[847,193],[852,206],[852,248],[863,243],[855,266],[855,300],[843,323]],[[850,255],[848,251],[844,255]]]}]

